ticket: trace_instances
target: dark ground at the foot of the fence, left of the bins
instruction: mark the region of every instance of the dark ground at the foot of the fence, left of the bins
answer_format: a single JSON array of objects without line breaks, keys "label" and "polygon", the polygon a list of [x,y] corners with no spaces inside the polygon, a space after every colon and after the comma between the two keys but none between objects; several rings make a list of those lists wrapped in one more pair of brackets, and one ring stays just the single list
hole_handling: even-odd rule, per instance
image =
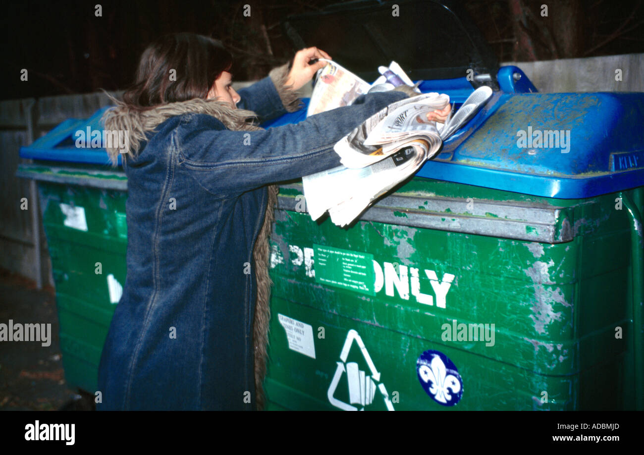
[{"label": "dark ground at the foot of the fence, left of the bins", "polygon": [[[0,323],[52,324],[52,343],[0,342],[0,411],[86,409],[77,391],[67,387],[59,347],[55,292],[0,269]],[[83,406],[84,405],[84,406]]]}]

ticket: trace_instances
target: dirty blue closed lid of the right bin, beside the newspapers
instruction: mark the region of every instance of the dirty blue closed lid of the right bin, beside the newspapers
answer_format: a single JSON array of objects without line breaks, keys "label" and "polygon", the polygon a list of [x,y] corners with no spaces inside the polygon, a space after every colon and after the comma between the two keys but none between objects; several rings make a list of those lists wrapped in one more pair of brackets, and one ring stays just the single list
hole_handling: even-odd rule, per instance
[{"label": "dirty blue closed lid of the right bin, beside the newspapers", "polygon": [[416,175],[565,199],[635,188],[643,118],[641,92],[496,92]]}]

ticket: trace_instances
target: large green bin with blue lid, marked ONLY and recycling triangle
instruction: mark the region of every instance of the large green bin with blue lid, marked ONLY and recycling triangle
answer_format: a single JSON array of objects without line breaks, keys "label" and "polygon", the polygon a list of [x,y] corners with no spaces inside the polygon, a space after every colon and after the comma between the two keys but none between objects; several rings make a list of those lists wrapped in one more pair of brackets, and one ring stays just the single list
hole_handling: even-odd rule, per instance
[{"label": "large green bin with blue lid, marked ONLY and recycling triangle", "polygon": [[349,228],[282,186],[268,409],[641,409],[643,113],[496,92]]}]

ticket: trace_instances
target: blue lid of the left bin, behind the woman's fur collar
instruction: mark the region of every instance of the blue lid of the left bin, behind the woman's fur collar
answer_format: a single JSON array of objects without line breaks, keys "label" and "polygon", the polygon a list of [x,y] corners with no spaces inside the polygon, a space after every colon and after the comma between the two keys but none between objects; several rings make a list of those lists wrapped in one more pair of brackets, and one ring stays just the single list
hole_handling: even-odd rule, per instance
[{"label": "blue lid of the left bin, behind the woman's fur collar", "polygon": [[[35,160],[111,165],[108,152],[104,148],[91,147],[93,131],[100,131],[102,136],[104,126],[100,117],[109,107],[99,109],[89,119],[67,119],[43,137],[34,140],[31,145],[21,147],[20,156]],[[86,137],[88,131],[90,138]],[[82,138],[87,139],[87,143],[84,144],[86,146],[78,147],[77,141]],[[118,157],[117,164],[121,165],[121,157]]]}]

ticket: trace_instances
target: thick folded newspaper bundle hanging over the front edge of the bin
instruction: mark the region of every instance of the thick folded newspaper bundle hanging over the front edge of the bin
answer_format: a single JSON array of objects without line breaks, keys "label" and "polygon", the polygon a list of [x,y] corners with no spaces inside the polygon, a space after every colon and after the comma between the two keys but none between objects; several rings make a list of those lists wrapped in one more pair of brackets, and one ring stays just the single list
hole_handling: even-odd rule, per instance
[{"label": "thick folded newspaper bundle hanging over the front edge of the bin", "polygon": [[439,130],[426,114],[441,110],[448,95],[425,93],[390,104],[339,140],[334,150],[342,166],[303,177],[308,212],[314,220],[328,211],[346,226],[374,201],[435,156],[443,140],[460,130],[488,102],[491,88],[480,87]]}]

